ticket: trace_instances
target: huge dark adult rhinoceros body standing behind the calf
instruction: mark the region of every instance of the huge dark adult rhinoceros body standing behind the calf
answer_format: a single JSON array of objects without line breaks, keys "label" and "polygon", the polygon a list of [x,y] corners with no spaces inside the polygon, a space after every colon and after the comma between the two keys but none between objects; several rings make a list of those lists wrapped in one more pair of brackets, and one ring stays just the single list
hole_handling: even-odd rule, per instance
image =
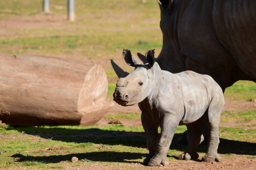
[{"label": "huge dark adult rhinoceros body standing behind the calf", "polygon": [[222,88],[256,82],[256,0],[157,0],[163,70],[210,75]]}]

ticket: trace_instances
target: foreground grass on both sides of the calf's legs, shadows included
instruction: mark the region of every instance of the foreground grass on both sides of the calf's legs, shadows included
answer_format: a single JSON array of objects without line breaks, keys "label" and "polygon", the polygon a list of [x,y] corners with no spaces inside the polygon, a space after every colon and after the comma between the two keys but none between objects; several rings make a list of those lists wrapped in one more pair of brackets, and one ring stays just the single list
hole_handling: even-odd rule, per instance
[{"label": "foreground grass on both sides of the calf's legs, shadows included", "polygon": [[[180,133],[186,130],[179,126],[168,152],[169,159],[186,149],[186,145],[177,144]],[[41,169],[62,169],[63,167],[84,167],[91,164],[113,165],[117,163],[138,163],[147,155],[146,139],[142,127],[108,125],[104,127],[79,126],[41,126],[0,128],[0,167],[17,166]],[[250,147],[256,142],[256,130],[244,128],[221,127],[221,145],[219,153],[255,155]],[[239,141],[238,141],[239,140]],[[244,142],[243,142],[244,141]],[[230,146],[232,143],[232,146]],[[236,147],[236,150],[233,147]],[[199,154],[206,152],[206,145],[199,147]],[[79,158],[71,163],[73,156]],[[248,157],[248,158],[249,158]]]}]

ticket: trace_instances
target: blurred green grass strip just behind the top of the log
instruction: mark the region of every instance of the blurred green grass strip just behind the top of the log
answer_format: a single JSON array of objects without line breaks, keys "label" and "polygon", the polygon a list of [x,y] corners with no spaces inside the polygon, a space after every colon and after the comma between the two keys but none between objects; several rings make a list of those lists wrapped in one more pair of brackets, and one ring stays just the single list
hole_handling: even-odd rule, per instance
[{"label": "blurred green grass strip just behind the top of the log", "polygon": [[[30,31],[33,32],[33,30]],[[144,31],[144,33],[150,34],[150,31]],[[136,52],[161,47],[161,40],[158,40],[157,43],[159,44],[156,45],[154,38],[149,37],[147,44],[137,44],[137,42],[129,42],[130,36],[137,37],[138,35],[135,32],[123,34],[123,31],[116,31],[111,34],[108,31],[86,31],[80,35],[61,35],[60,32],[44,37],[5,37],[4,40],[3,38],[0,39],[0,48],[2,53],[9,54],[32,53],[59,56],[61,54],[75,55],[79,53],[81,59],[84,59],[84,57],[89,59],[108,57],[110,59],[111,55],[103,56],[102,54],[120,51],[121,56],[123,48],[129,48]],[[108,41],[105,41],[106,38]]]}]

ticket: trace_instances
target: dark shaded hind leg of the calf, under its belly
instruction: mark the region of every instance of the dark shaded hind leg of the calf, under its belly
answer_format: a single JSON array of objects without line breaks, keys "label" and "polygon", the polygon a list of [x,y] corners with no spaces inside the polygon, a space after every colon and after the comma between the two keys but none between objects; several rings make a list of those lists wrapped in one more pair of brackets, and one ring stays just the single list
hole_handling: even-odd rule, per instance
[{"label": "dark shaded hind leg of the calf, under its belly", "polygon": [[201,120],[186,125],[188,129],[189,144],[184,153],[179,156],[180,160],[198,159],[197,149],[201,142]]}]

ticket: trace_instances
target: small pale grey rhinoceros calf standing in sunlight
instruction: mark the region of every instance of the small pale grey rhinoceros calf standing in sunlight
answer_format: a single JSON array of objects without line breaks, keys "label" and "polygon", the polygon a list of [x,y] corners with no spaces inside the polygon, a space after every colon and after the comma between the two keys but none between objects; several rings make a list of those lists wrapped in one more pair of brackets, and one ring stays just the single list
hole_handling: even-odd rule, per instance
[{"label": "small pale grey rhinoceros calf standing in sunlight", "polygon": [[[218,127],[224,107],[220,86],[208,75],[193,71],[172,74],[161,70],[155,62],[154,50],[146,53],[145,59],[142,59],[146,63],[144,65],[140,65],[129,50],[124,50],[123,56],[135,70],[128,74],[111,60],[119,76],[113,100],[122,106],[138,103],[142,111],[141,121],[149,150],[143,164],[169,165],[166,155],[178,125],[186,125],[189,134],[188,147],[179,158],[198,159],[202,122],[209,131],[207,153],[202,160],[221,161],[217,153]],[[158,126],[161,128],[160,134],[157,132]]]}]

